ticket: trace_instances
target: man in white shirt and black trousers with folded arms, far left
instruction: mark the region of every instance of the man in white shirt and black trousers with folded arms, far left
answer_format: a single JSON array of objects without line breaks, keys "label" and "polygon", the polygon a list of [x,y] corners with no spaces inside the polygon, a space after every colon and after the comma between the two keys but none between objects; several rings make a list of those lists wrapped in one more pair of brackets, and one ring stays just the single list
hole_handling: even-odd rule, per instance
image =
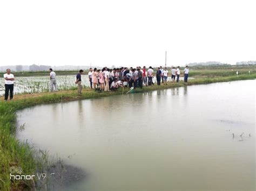
[{"label": "man in white shirt and black trousers with folded arms, far left", "polygon": [[10,91],[10,100],[14,97],[14,74],[11,74],[11,69],[6,69],[6,73],[4,74],[4,87],[5,87],[5,94],[4,100],[8,100],[8,95]]}]

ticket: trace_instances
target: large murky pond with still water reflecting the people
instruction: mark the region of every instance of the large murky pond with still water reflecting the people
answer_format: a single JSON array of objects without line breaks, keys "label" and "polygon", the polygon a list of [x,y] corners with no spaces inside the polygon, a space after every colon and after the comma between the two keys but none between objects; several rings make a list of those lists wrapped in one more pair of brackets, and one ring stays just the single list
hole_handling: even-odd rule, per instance
[{"label": "large murky pond with still water reflecting the people", "polygon": [[17,137],[84,169],[65,190],[255,190],[254,104],[247,80],[38,105]]}]

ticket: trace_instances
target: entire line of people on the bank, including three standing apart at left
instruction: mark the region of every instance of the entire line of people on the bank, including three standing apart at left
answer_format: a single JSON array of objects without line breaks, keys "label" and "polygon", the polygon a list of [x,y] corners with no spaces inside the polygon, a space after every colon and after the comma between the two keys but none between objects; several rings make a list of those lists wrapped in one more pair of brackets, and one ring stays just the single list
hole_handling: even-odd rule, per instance
[{"label": "entire line of people on the bank, including three standing apart at left", "polygon": [[[172,67],[171,69],[171,81],[179,82],[180,77],[180,67]],[[56,73],[53,72],[52,68],[49,69],[50,72],[50,91],[57,91]],[[82,74],[84,70],[80,69],[79,73],[76,75],[75,83],[78,86],[78,95],[82,94]],[[189,69],[188,66],[184,69],[184,82],[187,82]],[[167,84],[167,77],[169,76],[169,71],[167,68],[162,68],[161,66],[156,70],[157,84],[160,86],[161,82]],[[143,68],[107,68],[103,69],[90,68],[89,69],[89,81],[90,87],[95,90],[110,91],[116,90],[119,87],[130,87],[130,88],[143,88],[143,86],[152,86],[154,84],[154,69],[150,66],[149,69]],[[5,96],[4,100],[8,100],[10,92],[10,100],[13,98],[14,94],[14,75],[11,74],[10,69],[6,69],[6,74],[4,74],[5,80]]]}]

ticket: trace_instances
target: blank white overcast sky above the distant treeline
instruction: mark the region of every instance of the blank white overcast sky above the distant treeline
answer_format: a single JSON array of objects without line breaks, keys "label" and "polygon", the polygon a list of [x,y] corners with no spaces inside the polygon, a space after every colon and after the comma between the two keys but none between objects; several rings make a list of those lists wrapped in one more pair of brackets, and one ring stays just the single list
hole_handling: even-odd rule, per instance
[{"label": "blank white overcast sky above the distant treeline", "polygon": [[256,1],[0,1],[0,65],[256,60]]}]

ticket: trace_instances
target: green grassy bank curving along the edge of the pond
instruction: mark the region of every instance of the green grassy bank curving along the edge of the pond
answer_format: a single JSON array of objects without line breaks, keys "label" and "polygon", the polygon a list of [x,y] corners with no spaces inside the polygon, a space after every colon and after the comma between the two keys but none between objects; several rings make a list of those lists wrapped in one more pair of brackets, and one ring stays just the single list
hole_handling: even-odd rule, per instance
[{"label": "green grassy bank curving along the edge of the pond", "polygon": [[[248,70],[247,70],[248,71]],[[252,71],[252,70],[251,70]],[[235,80],[249,80],[256,78],[256,72],[253,71],[249,75],[248,72],[243,75],[235,75],[232,72],[230,76],[225,77],[211,77],[210,72],[204,71],[207,77],[200,77],[188,81],[188,83],[179,82],[171,83],[167,85],[144,87],[143,89],[137,88],[136,93],[160,90],[173,87],[190,86],[193,84],[207,84],[214,82],[227,82]],[[218,75],[221,72],[217,73]],[[207,75],[208,74],[208,75]],[[213,72],[211,73],[213,74]],[[124,92],[128,89],[126,88]],[[12,166],[22,167],[24,174],[35,174],[37,169],[37,160],[35,159],[35,150],[27,144],[20,143],[15,137],[16,126],[16,111],[27,107],[31,107],[37,104],[66,102],[71,100],[82,100],[86,98],[98,98],[103,96],[122,94],[122,89],[119,89],[110,93],[97,93],[90,89],[84,89],[82,96],[77,96],[76,90],[59,91],[57,93],[41,93],[34,95],[17,95],[15,100],[3,102],[0,101],[0,190],[18,190],[27,188],[33,188],[34,183],[31,181],[11,181],[9,168]]]}]

